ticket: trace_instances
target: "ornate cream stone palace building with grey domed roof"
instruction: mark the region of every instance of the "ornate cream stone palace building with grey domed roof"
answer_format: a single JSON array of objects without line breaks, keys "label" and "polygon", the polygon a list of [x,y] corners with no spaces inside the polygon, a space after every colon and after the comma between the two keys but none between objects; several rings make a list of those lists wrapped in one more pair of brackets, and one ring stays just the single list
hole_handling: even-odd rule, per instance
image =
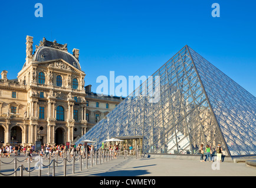
[{"label": "ornate cream stone palace building with grey domed roof", "polygon": [[0,79],[0,145],[50,145],[84,135],[123,98],[98,96],[84,86],[79,50],[45,38],[36,45],[27,36],[26,61],[18,79]]}]

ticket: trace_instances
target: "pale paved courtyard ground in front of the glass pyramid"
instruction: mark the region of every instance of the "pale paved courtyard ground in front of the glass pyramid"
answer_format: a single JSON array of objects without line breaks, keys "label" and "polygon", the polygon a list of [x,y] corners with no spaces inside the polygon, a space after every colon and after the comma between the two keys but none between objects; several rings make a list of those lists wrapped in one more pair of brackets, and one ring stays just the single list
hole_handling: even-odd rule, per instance
[{"label": "pale paved courtyard ground in front of the glass pyramid", "polygon": [[[14,162],[5,164],[13,159],[14,156],[0,158],[4,162],[1,163],[1,173],[11,174],[14,172]],[[22,161],[25,157],[18,156],[17,159]],[[55,167],[55,176],[63,176],[62,160],[62,158],[58,158],[59,164]],[[37,161],[33,160],[30,165],[31,170],[34,169],[35,163]],[[48,160],[44,159],[43,163],[47,166]],[[20,164],[24,164],[24,167],[28,170],[28,162],[18,162],[17,166]],[[86,160],[83,160],[82,171],[80,171],[79,160],[76,160],[74,173],[73,163],[67,163],[66,176],[256,176],[256,167],[247,166],[245,163],[224,162],[220,163],[219,166],[215,165],[215,170],[212,166],[212,162],[199,162],[199,160],[161,159],[156,157],[136,159],[134,156],[124,159],[121,156],[119,159],[109,160],[97,164],[97,166],[94,164],[93,167],[90,166],[90,160],[88,160],[87,169]],[[0,174],[0,176],[2,175]],[[14,174],[11,174],[11,176],[14,176]],[[19,172],[17,172],[17,176],[19,176]],[[25,170],[24,176],[28,176],[28,172]],[[33,170],[30,176],[38,176],[38,170]],[[44,167],[41,176],[52,176],[52,165],[50,165],[50,170],[48,167]]]}]

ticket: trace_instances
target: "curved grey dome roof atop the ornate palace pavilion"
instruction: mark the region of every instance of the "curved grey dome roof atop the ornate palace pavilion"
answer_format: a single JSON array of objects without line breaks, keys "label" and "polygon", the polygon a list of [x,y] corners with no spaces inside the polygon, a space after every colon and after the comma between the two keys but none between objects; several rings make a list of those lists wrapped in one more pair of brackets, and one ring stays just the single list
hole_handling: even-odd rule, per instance
[{"label": "curved grey dome roof atop the ornate palace pavilion", "polygon": [[78,60],[73,55],[67,51],[62,51],[48,46],[40,46],[40,48],[38,48],[34,53],[32,61],[44,62],[54,59],[63,59],[65,62],[70,63],[70,65],[81,70]]}]

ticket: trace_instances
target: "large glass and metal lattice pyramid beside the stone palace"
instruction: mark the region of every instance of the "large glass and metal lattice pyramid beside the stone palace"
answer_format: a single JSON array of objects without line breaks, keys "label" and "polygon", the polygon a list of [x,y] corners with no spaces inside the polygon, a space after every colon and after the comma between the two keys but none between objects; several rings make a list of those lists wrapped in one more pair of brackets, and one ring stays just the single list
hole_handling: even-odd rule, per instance
[{"label": "large glass and metal lattice pyramid beside the stone palace", "polygon": [[256,100],[202,56],[183,47],[77,140],[143,137],[143,153],[197,155],[221,144],[256,155]]}]

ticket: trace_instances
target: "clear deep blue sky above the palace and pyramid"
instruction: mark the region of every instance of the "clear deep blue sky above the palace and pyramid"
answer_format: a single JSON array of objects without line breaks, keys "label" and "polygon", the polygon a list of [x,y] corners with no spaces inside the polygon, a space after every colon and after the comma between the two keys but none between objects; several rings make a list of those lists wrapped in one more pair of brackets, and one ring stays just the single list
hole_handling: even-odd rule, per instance
[{"label": "clear deep blue sky above the palace and pyramid", "polygon": [[[36,18],[36,3],[43,18]],[[211,16],[213,3],[221,17]],[[152,75],[189,45],[256,96],[256,1],[84,0],[2,1],[1,70],[17,78],[25,62],[25,38],[80,49],[86,85],[96,92],[97,76]]]}]

